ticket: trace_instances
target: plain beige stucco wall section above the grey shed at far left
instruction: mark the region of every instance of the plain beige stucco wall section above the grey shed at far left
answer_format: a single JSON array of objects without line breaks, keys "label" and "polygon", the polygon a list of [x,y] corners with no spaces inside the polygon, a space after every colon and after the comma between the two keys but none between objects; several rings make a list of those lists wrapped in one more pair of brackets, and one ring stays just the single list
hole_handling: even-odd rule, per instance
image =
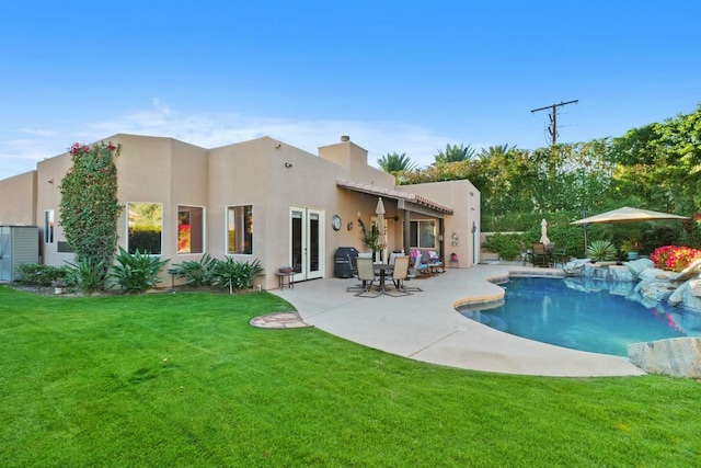
[{"label": "plain beige stucco wall section above the grey shed at far left", "polygon": [[36,226],[36,171],[0,181],[0,225]]}]

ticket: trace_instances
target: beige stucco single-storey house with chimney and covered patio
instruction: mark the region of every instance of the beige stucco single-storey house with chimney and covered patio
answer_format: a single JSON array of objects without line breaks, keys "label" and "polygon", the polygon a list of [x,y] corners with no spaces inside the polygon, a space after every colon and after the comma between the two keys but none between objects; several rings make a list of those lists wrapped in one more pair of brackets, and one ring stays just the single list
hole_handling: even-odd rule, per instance
[{"label": "beige stucco single-storey house with chimney and covered patio", "polygon": [[[479,262],[480,193],[469,181],[397,185],[347,136],[318,156],[269,137],[211,149],[125,134],[104,141],[122,145],[119,246],[169,259],[166,267],[208,253],[258,260],[263,288],[277,287],[285,265],[295,282],[332,277],[338,248],[367,250],[360,225],[377,220],[378,197],[388,251],[429,249],[446,264],[455,253],[460,267]],[[0,225],[38,226],[41,259],[50,265],[73,259],[58,208],[70,167],[66,152],[0,181]],[[145,229],[150,236],[139,235]]]}]

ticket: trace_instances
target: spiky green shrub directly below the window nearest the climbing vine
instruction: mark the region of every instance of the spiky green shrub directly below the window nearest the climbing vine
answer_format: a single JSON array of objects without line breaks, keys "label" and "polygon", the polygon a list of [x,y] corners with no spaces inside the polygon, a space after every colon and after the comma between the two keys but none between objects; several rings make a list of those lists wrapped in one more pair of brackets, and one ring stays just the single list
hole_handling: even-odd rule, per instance
[{"label": "spiky green shrub directly below the window nearest the climbing vine", "polygon": [[162,281],[159,273],[168,263],[168,260],[161,260],[160,256],[151,256],[139,250],[130,254],[122,248],[115,260],[118,264],[111,266],[110,278],[127,293],[143,293],[156,287]]}]

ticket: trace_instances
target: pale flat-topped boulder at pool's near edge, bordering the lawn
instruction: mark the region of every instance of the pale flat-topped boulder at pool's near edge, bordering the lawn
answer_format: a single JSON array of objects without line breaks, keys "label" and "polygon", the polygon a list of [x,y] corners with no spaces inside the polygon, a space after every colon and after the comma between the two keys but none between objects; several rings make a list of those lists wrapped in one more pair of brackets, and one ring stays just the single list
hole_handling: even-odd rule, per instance
[{"label": "pale flat-topped boulder at pool's near edge, bordering the lawn", "polygon": [[701,338],[631,343],[628,357],[646,373],[674,377],[701,377]]}]

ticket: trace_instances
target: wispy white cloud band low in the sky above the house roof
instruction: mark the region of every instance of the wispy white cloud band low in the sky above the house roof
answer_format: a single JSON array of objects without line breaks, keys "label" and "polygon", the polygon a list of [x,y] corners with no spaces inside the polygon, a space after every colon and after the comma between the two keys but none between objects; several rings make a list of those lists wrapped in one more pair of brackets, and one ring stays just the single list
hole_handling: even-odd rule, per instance
[{"label": "wispy white cloud band low in the sky above the house roof", "polygon": [[[114,134],[136,134],[172,137],[204,148],[215,148],[257,138],[264,135],[301,148],[313,155],[319,146],[340,141],[342,135],[369,152],[368,162],[388,152],[405,152],[418,167],[428,165],[434,155],[447,142],[460,144],[458,138],[439,135],[420,125],[403,122],[371,122],[318,119],[304,121],[277,117],[244,116],[238,113],[185,113],[172,110],[158,98],[149,109],[116,115],[104,122],[87,124],[82,128],[38,130],[23,128],[24,134],[41,138],[22,138],[0,142],[0,160],[8,158],[37,161],[59,155],[72,142],[90,144]],[[473,145],[474,147],[474,145]],[[1,148],[1,147],[0,147]],[[16,169],[0,165],[0,179],[14,175]],[[25,170],[35,169],[35,165]]]}]

